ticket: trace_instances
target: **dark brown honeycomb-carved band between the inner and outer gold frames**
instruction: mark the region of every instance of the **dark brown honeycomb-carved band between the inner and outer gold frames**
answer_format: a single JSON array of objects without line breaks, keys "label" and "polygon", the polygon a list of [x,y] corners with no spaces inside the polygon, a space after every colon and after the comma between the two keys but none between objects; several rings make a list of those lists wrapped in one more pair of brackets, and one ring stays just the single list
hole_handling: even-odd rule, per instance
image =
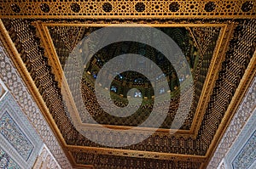
[{"label": "dark brown honeycomb-carved band between the inner and outer gold frames", "polygon": [[[76,10],[79,10],[77,5],[74,5],[73,8],[77,8]],[[143,5],[138,5],[137,8],[143,10]],[[145,6],[145,8],[147,8],[147,6]],[[109,10],[109,7],[106,7],[106,10]],[[118,22],[118,20],[115,21]],[[139,21],[140,20],[138,20],[138,22]],[[194,21],[195,20],[192,20],[192,22]],[[225,22],[225,20],[218,21]],[[212,138],[214,137],[220,122],[223,120],[227,104],[230,104],[230,100],[241,81],[241,77],[243,76],[250,59],[253,56],[253,52],[255,51],[255,20],[233,21],[237,24],[233,40],[230,41],[230,48],[226,53],[223,66],[219,72],[218,80],[215,85],[216,87],[213,89],[211,101],[208,104],[207,113],[201,122],[201,128],[199,129],[197,138],[175,138],[166,136],[165,134],[155,134],[141,144],[132,145],[122,149],[206,155],[207,149],[212,142]],[[169,20],[169,22],[172,22],[172,20]],[[36,32],[31,26],[31,22],[29,20],[3,20],[3,23],[9,31],[9,35],[13,42],[15,42],[15,47],[19,51],[21,59],[23,59],[27,70],[31,73],[39,92],[43,96],[44,101],[49,108],[49,112],[51,112],[51,115],[55,119],[55,123],[59,127],[67,144],[99,147],[100,145],[91,143],[79,134],[65,114],[65,107],[61,102],[60,89],[57,87],[57,82],[54,80],[55,76],[51,74],[51,67],[48,65],[47,57],[44,56],[44,49],[40,47],[38,37],[35,36]],[[216,116],[218,118],[216,118]],[[101,131],[91,130],[91,134],[101,136]],[[109,137],[112,139],[119,139],[119,136],[112,135],[111,133],[109,133]],[[136,137],[136,135],[130,135],[129,133],[123,138],[131,139],[132,137]],[[104,141],[106,139],[102,138],[102,140]],[[122,168],[125,167],[127,161],[130,161],[131,163],[131,157],[127,156],[122,158],[117,158],[116,156],[113,157],[111,155],[108,156],[111,158],[104,157],[102,159],[111,161],[104,165],[101,160],[86,160],[93,155],[93,153],[88,155],[79,151],[73,151],[73,156],[76,158],[78,163],[93,162],[99,168]],[[132,156],[132,153],[127,153],[127,155]],[[154,156],[152,156],[152,158],[154,158]],[[98,157],[95,157],[95,159],[98,159]],[[200,166],[199,162],[192,163],[188,159],[183,159],[183,161],[181,161],[181,158],[177,158],[173,161],[175,161],[177,168],[198,168],[198,166]],[[150,162],[149,164],[148,162],[149,161],[145,160],[143,157],[137,158],[137,164],[130,166],[130,168],[143,168],[144,165],[146,165],[144,168],[150,168],[151,166],[152,168],[155,168],[157,165],[161,165],[162,168],[168,168],[173,164],[172,160],[169,161],[169,166],[165,162],[161,163],[160,161],[151,161],[152,165],[150,166]]]}]

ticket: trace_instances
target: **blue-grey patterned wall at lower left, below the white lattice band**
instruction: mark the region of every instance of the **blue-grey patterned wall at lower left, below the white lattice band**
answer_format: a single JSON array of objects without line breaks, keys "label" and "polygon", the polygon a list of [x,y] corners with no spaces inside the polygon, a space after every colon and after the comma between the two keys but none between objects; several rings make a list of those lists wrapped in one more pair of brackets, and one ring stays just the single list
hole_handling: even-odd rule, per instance
[{"label": "blue-grey patterned wall at lower left, below the white lattice band", "polygon": [[0,143],[0,168],[61,169],[1,79]]}]

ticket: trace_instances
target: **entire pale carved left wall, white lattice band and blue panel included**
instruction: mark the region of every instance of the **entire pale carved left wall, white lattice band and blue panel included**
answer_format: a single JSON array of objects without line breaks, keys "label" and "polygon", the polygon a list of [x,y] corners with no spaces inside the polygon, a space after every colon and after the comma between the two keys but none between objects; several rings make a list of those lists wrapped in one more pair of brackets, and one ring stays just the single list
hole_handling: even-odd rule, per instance
[{"label": "entire pale carved left wall, white lattice band and blue panel included", "polygon": [[0,143],[0,168],[32,168],[40,149],[43,168],[72,168],[1,42]]}]

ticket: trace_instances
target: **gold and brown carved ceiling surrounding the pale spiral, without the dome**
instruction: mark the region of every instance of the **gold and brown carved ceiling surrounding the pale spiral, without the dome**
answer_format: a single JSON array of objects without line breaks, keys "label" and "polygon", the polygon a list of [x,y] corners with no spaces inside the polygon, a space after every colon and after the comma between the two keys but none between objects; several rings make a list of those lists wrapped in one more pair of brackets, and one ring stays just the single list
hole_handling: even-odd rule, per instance
[{"label": "gold and brown carved ceiling surrounding the pale spiral, without the dome", "polygon": [[[255,76],[253,1],[0,1],[0,13],[4,45],[20,72],[28,72],[24,75],[32,82],[27,86],[74,167],[205,168]],[[73,99],[63,102],[61,95],[62,68],[65,57],[88,32],[132,23],[188,32],[199,53],[191,88],[194,102],[183,128],[175,134],[166,125],[142,143],[110,148],[90,141],[73,126],[66,106]],[[96,100],[88,97],[93,95],[90,82],[84,84],[87,108],[99,113]],[[176,105],[172,102],[170,110]],[[122,121],[108,116],[99,115],[98,121],[120,131],[105,135],[96,125],[84,124],[92,135],[102,137],[102,144],[113,139],[125,142],[151,130],[129,132],[127,124],[136,126],[136,122],[121,126]]]}]

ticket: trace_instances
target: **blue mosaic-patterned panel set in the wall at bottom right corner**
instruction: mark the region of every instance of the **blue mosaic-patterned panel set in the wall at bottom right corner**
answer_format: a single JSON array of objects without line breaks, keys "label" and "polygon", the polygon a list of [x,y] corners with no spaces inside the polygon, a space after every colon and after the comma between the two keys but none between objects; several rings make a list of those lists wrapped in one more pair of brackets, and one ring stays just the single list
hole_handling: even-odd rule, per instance
[{"label": "blue mosaic-patterned panel set in the wall at bottom right corner", "polygon": [[249,168],[256,160],[256,131],[253,133],[251,138],[248,139],[247,143],[243,146],[236,159],[232,162],[234,169],[238,168]]}]

